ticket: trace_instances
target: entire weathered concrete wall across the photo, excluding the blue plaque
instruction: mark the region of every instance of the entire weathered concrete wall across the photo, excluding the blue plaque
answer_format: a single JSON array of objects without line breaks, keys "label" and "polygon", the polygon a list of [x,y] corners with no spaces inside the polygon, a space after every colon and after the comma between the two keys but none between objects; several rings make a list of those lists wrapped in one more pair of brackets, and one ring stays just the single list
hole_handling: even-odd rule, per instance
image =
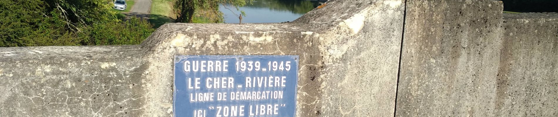
[{"label": "entire weathered concrete wall across the photo, excluding the blue plaque", "polygon": [[0,116],[171,116],[174,55],[300,55],[296,116],[558,116],[558,14],[502,8],[336,0],[141,45],[0,48]]}]

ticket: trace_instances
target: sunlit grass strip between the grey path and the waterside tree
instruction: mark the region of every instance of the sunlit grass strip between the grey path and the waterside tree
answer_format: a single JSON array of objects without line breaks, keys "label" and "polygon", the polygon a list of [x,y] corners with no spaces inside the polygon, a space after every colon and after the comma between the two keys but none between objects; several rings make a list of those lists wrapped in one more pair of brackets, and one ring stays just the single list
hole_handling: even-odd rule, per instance
[{"label": "sunlit grass strip between the grey path and the waterside tree", "polygon": [[174,22],[171,0],[153,0],[151,2],[151,15],[149,22],[158,28],[165,23]]}]

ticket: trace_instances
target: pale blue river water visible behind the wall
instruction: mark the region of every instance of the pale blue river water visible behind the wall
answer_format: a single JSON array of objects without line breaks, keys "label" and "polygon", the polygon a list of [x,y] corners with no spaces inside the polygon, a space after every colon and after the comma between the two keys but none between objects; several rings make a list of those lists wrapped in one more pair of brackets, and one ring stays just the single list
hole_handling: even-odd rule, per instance
[{"label": "pale blue river water visible behind the wall", "polygon": [[[318,1],[254,0],[252,4],[247,4],[239,9],[247,14],[242,19],[243,23],[278,23],[294,21],[319,5],[320,2]],[[240,14],[233,7],[227,8],[232,9],[236,14]],[[228,9],[220,6],[219,10],[223,12],[225,23],[238,23],[238,17]]]}]

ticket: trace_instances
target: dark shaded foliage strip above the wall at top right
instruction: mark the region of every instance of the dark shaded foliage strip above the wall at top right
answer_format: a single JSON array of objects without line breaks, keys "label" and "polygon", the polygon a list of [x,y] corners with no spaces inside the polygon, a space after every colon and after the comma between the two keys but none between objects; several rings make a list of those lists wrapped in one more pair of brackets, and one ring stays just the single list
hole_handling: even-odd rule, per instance
[{"label": "dark shaded foliage strip above the wall at top right", "polygon": [[511,12],[558,12],[558,0],[501,0],[504,11]]}]

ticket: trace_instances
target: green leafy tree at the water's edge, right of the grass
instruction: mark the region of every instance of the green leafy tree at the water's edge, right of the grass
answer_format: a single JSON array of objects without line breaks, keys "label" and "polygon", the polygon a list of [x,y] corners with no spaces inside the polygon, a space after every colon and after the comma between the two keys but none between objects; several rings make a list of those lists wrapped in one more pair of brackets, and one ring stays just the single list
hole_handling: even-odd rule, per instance
[{"label": "green leafy tree at the water's edge, right of the grass", "polygon": [[[174,4],[176,22],[180,23],[196,23],[204,21],[205,23],[222,23],[223,13],[219,11],[219,6],[233,6],[237,10],[238,7],[252,3],[252,0],[176,0]],[[243,16],[244,12],[240,11]],[[199,23],[199,22],[198,22]]]}]

